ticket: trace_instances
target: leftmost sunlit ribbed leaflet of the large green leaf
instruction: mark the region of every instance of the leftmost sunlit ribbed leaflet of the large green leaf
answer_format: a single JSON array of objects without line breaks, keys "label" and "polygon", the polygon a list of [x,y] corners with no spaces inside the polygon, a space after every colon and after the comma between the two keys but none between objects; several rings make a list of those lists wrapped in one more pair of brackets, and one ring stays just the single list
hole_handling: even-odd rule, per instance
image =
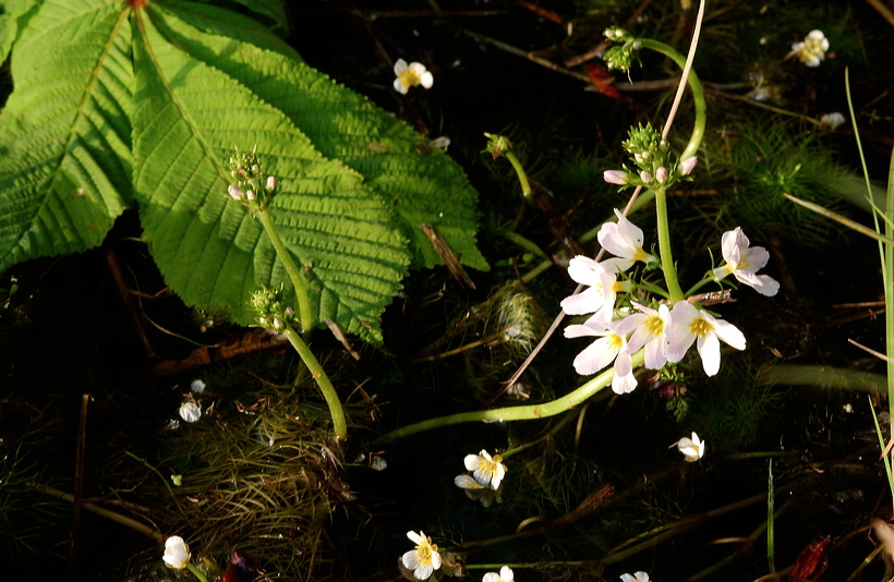
[{"label": "leftmost sunlit ribbed leaflet of the large green leaf", "polygon": [[130,25],[47,3],[21,32],[0,116],[0,269],[102,242],[131,199]]}]

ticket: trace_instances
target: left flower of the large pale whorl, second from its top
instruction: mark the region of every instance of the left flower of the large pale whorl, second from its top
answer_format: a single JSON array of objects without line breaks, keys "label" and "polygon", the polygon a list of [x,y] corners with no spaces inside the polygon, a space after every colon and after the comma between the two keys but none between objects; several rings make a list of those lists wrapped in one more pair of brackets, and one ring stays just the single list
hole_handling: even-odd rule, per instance
[{"label": "left flower of the large pale whorl, second from its top", "polygon": [[629,291],[630,282],[618,281],[615,271],[607,270],[605,263],[596,263],[583,255],[578,255],[568,263],[568,276],[576,282],[589,287],[580,293],[561,300],[560,305],[565,313],[568,315],[593,313],[591,319],[601,323],[612,320],[617,293]]}]

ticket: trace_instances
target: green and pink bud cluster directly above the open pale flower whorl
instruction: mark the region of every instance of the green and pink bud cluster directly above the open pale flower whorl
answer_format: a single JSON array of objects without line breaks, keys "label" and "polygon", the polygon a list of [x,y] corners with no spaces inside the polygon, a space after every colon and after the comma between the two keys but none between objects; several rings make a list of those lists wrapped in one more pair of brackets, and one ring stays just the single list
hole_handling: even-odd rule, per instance
[{"label": "green and pink bud cluster directly above the open pale flower whorl", "polygon": [[670,163],[667,141],[662,140],[650,123],[631,128],[623,145],[636,168],[623,166],[623,170],[606,170],[602,177],[609,184],[668,189],[676,182],[688,180],[698,162],[696,156],[690,156],[679,163]]}]

